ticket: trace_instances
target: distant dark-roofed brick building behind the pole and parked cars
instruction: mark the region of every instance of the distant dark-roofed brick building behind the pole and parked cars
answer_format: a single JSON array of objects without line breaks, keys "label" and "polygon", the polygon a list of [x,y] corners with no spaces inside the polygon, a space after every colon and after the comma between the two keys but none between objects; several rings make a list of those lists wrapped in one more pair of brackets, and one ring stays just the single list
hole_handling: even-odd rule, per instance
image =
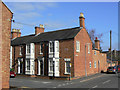
[{"label": "distant dark-roofed brick building behind the pole and parked cars", "polygon": [[[111,66],[111,50],[103,51],[103,53],[107,54],[107,63],[108,66]],[[120,51],[112,50],[112,66],[120,65]]]}]

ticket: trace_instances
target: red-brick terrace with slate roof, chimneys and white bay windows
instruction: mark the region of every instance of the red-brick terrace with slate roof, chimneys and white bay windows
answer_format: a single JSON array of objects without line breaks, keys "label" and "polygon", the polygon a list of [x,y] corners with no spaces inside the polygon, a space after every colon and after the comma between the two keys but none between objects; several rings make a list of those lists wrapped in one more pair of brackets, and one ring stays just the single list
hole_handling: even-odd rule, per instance
[{"label": "red-brick terrace with slate roof, chimneys and white bay windows", "polygon": [[68,78],[71,74],[77,78],[105,71],[106,54],[100,52],[99,40],[95,40],[93,49],[83,13],[79,21],[80,27],[52,32],[44,32],[40,25],[35,27],[35,34],[27,36],[13,29],[11,61],[17,74],[56,78]]}]

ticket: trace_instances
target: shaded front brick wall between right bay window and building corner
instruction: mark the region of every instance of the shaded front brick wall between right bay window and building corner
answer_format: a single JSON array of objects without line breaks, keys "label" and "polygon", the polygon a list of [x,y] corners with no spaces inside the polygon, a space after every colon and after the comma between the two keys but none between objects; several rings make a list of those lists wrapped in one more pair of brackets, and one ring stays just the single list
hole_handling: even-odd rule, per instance
[{"label": "shaded front brick wall between right bay window and building corner", "polygon": [[70,40],[60,40],[59,41],[59,57],[60,57],[60,76],[61,77],[66,77],[69,76],[67,74],[65,74],[65,60],[64,58],[70,58],[71,59],[71,63],[72,63],[72,67],[71,67],[71,76],[74,76],[74,40],[70,39]]}]

